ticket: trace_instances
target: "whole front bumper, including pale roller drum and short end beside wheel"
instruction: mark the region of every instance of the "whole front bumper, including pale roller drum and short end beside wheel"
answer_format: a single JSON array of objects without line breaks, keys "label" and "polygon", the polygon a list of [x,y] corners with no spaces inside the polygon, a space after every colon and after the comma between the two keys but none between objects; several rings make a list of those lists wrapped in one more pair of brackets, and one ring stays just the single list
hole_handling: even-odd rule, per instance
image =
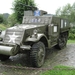
[{"label": "whole front bumper, including pale roller drum and short end beside wheel", "polygon": [[3,55],[9,55],[9,56],[13,56],[16,55],[20,52],[20,50],[30,50],[31,46],[30,45],[9,45],[9,44],[3,44],[0,42],[0,54]]}]

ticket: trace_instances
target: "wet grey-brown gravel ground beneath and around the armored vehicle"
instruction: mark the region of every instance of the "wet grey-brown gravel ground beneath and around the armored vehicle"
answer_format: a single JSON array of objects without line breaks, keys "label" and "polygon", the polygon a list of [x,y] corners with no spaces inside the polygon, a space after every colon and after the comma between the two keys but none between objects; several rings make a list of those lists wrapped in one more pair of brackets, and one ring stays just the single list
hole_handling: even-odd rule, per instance
[{"label": "wet grey-brown gravel ground beneath and around the armored vehicle", "polygon": [[[29,69],[6,67],[4,65],[28,67]],[[42,68],[53,68],[57,65],[75,67],[75,44],[67,44],[66,48],[62,50],[52,48],[47,51],[45,63]],[[0,75],[39,75],[39,73],[43,71],[41,69],[33,70],[30,68],[30,61],[27,61],[26,55],[24,54],[11,56],[10,59],[5,62],[0,61]]]}]

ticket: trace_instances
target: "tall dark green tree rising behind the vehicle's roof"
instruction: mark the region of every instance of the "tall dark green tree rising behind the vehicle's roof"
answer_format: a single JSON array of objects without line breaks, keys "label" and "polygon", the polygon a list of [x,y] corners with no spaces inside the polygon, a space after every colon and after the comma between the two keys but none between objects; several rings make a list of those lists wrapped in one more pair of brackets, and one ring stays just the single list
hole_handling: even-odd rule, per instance
[{"label": "tall dark green tree rising behind the vehicle's roof", "polygon": [[22,18],[24,15],[24,10],[31,10],[25,5],[35,6],[34,0],[14,0],[13,10],[17,22],[22,23]]}]

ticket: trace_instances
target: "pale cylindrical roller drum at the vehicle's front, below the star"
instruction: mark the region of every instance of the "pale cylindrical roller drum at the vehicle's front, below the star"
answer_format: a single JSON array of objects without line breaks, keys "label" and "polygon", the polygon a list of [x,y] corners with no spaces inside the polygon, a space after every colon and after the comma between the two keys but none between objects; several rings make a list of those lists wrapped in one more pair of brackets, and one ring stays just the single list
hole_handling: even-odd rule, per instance
[{"label": "pale cylindrical roller drum at the vehicle's front, below the star", "polygon": [[19,52],[18,45],[4,45],[0,43],[0,54],[3,55],[16,55]]}]

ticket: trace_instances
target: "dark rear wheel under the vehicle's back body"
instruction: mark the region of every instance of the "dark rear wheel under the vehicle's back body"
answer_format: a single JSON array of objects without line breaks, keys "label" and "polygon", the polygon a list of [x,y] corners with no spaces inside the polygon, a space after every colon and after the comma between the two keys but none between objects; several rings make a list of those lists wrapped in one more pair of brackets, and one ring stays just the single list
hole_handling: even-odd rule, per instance
[{"label": "dark rear wheel under the vehicle's back body", "polygon": [[61,35],[58,39],[58,44],[55,46],[58,49],[63,49],[67,44],[68,36]]}]

